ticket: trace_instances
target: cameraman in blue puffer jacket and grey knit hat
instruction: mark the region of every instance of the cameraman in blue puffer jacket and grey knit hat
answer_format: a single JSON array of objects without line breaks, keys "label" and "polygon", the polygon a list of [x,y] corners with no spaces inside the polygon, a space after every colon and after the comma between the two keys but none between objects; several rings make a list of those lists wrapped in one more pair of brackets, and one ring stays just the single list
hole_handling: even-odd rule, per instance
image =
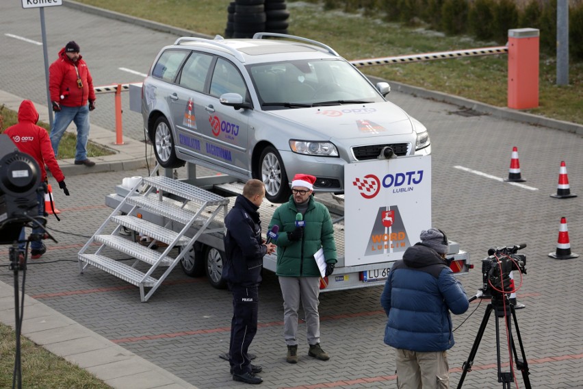
[{"label": "cameraman in blue puffer jacket and grey knit hat", "polygon": [[396,349],[399,389],[449,388],[450,311],[463,314],[469,302],[445,260],[447,236],[430,228],[419,238],[393,264],[380,296],[388,317],[385,343]]}]

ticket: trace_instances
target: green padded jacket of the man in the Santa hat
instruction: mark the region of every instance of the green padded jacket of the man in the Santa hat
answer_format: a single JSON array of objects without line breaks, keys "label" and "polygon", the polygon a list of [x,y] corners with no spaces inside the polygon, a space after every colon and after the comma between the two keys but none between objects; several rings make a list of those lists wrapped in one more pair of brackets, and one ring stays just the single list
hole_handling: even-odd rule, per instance
[{"label": "green padded jacket of the man in the Santa hat", "polygon": [[276,274],[283,277],[320,277],[314,254],[322,247],[326,262],[336,263],[334,228],[328,208],[310,196],[308,208],[303,215],[304,234],[299,241],[287,238],[288,231],[296,229],[298,210],[294,197],[277,208],[270,222],[270,229],[279,226]]}]

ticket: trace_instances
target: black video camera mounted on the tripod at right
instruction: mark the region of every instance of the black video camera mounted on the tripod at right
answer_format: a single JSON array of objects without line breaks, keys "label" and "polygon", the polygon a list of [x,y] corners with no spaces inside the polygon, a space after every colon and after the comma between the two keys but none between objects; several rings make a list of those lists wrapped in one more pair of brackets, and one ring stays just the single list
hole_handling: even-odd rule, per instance
[{"label": "black video camera mounted on the tripod at right", "polygon": [[488,258],[482,260],[482,297],[504,299],[504,292],[513,291],[510,272],[518,270],[526,274],[526,255],[517,251],[526,244],[518,246],[496,247],[488,250]]}]

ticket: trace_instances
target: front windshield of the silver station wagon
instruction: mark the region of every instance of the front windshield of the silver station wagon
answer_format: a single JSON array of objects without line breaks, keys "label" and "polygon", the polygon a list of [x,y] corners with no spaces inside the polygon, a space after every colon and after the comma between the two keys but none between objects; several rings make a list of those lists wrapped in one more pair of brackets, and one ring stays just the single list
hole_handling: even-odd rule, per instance
[{"label": "front windshield of the silver station wagon", "polygon": [[248,66],[263,110],[384,101],[344,60],[295,60]]}]

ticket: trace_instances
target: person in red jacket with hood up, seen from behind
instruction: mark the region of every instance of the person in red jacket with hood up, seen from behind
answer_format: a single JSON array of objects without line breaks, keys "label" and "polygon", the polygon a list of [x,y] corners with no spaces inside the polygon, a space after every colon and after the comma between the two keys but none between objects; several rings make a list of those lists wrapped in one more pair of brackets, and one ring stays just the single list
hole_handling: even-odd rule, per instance
[{"label": "person in red jacket with hood up, seen from behind", "polygon": [[[10,139],[12,139],[12,142],[14,142],[19,151],[27,153],[34,158],[40,168],[40,179],[42,182],[47,181],[47,171],[44,170],[44,166],[46,165],[49,167],[49,171],[51,171],[53,177],[55,177],[59,183],[59,188],[61,188],[65,195],[68,196],[69,191],[65,184],[65,176],[57,163],[55,153],[53,153],[49,134],[47,134],[46,129],[36,125],[37,122],[38,112],[34,107],[34,104],[30,100],[24,100],[21,103],[20,108],[18,108],[18,124],[5,129],[4,134],[10,136]],[[43,216],[44,214],[44,194],[42,192],[38,193],[38,214],[40,216]],[[44,231],[42,227],[37,227],[33,228],[32,232],[33,234],[42,234]],[[21,236],[18,240],[20,241],[19,249],[24,253],[24,228],[22,229]],[[44,243],[40,240],[33,240],[30,246],[30,258],[33,260],[38,260],[38,258],[47,251],[47,247],[45,247]]]}]

